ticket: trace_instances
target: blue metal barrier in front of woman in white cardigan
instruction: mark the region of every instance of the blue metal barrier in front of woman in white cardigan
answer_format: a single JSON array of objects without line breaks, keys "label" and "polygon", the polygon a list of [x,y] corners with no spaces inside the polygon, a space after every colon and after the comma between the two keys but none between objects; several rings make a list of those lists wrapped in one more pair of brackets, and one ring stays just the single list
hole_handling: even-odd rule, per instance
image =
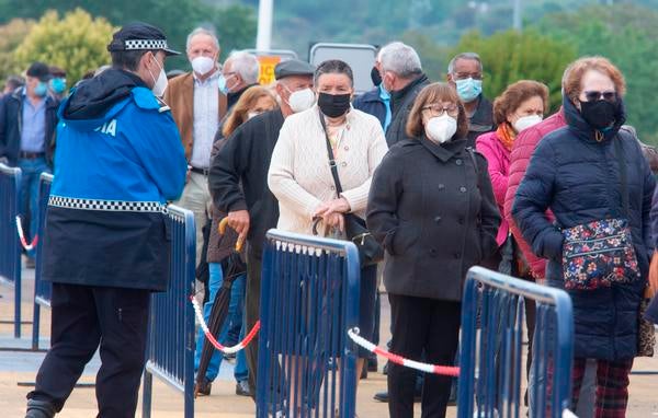
[{"label": "blue metal barrier in front of woman in white cardigan", "polygon": [[359,254],[347,241],[272,230],[261,278],[257,417],[353,417]]}]

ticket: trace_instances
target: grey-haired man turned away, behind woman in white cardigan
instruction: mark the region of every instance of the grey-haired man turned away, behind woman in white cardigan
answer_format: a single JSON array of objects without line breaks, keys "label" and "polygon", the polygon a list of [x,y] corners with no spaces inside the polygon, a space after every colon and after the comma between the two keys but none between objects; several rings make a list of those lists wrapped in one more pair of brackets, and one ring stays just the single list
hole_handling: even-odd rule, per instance
[{"label": "grey-haired man turned away, behind woman in white cardigan", "polygon": [[418,93],[430,82],[422,72],[420,57],[409,45],[390,43],[379,51],[382,85],[390,92],[392,119],[386,130],[388,148],[407,139],[407,119]]}]

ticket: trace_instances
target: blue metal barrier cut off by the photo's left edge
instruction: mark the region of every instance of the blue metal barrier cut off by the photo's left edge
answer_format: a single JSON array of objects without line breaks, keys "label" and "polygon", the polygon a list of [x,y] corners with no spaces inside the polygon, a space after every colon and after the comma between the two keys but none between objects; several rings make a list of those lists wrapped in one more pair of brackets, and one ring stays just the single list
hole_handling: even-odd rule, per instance
[{"label": "blue metal barrier cut off by the photo's left edge", "polygon": [[14,289],[14,337],[21,338],[21,170],[0,163],[0,283]]}]

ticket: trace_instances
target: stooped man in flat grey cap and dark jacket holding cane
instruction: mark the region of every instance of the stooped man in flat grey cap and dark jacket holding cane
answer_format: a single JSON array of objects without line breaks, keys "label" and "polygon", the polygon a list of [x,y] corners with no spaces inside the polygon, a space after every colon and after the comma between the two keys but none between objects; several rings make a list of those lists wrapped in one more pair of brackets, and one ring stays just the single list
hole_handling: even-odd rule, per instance
[{"label": "stooped man in flat grey cap and dark jacket holding cane", "polygon": [[[228,224],[240,239],[247,239],[247,290],[245,322],[251,329],[260,315],[260,278],[265,233],[276,227],[279,204],[266,183],[274,144],[283,120],[300,112],[313,88],[315,68],[307,62],[288,60],[274,69],[281,108],[259,115],[226,139],[226,144],[211,163],[208,184],[213,202],[228,212]],[[313,95],[313,92],[310,92]],[[310,106],[313,103],[306,103]],[[240,186],[241,185],[241,186]],[[258,340],[246,348],[251,396],[256,396]]]}]

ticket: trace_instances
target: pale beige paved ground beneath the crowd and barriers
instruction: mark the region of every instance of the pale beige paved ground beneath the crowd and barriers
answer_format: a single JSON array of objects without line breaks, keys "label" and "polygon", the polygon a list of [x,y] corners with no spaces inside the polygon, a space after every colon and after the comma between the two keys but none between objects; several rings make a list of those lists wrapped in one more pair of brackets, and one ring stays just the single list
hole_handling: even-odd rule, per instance
[{"label": "pale beige paved ground beneath the crowd and barriers", "polygon": [[[24,321],[32,321],[32,297],[33,297],[33,272],[23,270],[23,303],[22,312]],[[13,317],[13,291],[0,286],[0,321]],[[389,306],[386,298],[383,299],[383,314],[385,320],[382,324],[382,336],[388,338]],[[49,312],[43,310],[42,336],[47,337],[49,329]],[[0,324],[0,348],[8,346],[29,347],[29,338],[32,325],[23,326],[25,339],[15,341],[12,337],[12,325]],[[42,344],[47,347],[47,340]],[[21,417],[24,413],[25,394],[31,390],[30,384],[34,381],[36,371],[44,357],[43,352],[0,351],[0,411],[4,417]],[[94,358],[86,369],[81,383],[93,383],[93,376],[98,370],[99,361]],[[235,382],[232,381],[232,365],[224,362],[218,380],[213,385],[213,394],[209,397],[200,398],[195,403],[195,416],[200,418],[242,418],[253,417],[254,407],[250,398],[235,395]],[[635,372],[658,371],[658,358],[638,359],[635,362]],[[658,417],[658,374],[634,374],[631,383],[631,400],[628,418]],[[370,373],[366,381],[361,381],[358,395],[358,413],[361,418],[383,418],[388,416],[386,404],[373,400],[374,393],[386,388],[386,376],[379,373]],[[162,383],[155,381],[154,411],[155,418],[173,418],[182,416],[182,396]],[[417,404],[416,417],[420,417],[420,405]],[[89,418],[95,415],[94,390],[91,387],[77,387],[63,413],[63,418]],[[140,407],[138,417],[141,416]],[[449,408],[449,417],[455,417],[456,409]]]}]

